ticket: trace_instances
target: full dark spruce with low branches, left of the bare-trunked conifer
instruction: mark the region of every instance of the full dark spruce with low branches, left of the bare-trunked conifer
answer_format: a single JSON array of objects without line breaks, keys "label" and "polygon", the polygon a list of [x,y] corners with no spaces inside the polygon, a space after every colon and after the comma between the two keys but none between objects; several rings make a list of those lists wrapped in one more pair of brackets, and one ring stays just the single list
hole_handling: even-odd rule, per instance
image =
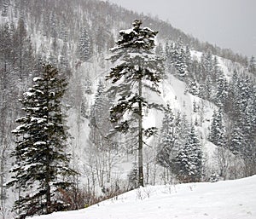
[{"label": "full dark spruce with low branches, left of the bare-trunked conifer", "polygon": [[72,186],[69,176],[75,174],[68,167],[67,128],[61,112],[67,82],[51,65],[44,65],[33,82],[19,100],[26,115],[16,120],[20,125],[13,130],[16,163],[8,186],[19,189],[14,206],[17,218],[67,209],[61,194]]}]

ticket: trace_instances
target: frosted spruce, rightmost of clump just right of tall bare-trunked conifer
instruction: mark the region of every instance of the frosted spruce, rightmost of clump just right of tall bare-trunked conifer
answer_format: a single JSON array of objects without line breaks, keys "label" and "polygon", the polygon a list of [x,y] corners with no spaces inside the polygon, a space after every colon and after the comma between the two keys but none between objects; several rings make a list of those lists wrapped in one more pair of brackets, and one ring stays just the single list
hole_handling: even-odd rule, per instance
[{"label": "frosted spruce, rightmost of clump just right of tall bare-trunked conifer", "polygon": [[176,159],[177,177],[181,182],[201,181],[202,151],[193,124],[191,124],[187,141],[180,147]]}]

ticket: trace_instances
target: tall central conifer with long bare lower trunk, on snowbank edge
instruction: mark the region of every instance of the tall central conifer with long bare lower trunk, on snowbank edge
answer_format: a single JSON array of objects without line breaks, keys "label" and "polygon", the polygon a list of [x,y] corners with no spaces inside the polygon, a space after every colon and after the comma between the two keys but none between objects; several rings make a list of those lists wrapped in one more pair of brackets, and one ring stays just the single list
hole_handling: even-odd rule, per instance
[{"label": "tall central conifer with long bare lower trunk, on snowbank edge", "polygon": [[111,49],[113,55],[110,58],[117,64],[107,76],[107,80],[113,83],[109,92],[117,97],[110,109],[110,120],[116,123],[115,130],[127,133],[131,124],[137,123],[138,186],[143,186],[143,135],[149,137],[156,131],[155,127],[143,129],[143,109],[161,108],[143,97],[143,89],[159,94],[158,84],[164,73],[162,59],[154,54],[157,32],[141,25],[141,20],[135,20],[131,29],[119,32],[120,38],[117,46]]}]

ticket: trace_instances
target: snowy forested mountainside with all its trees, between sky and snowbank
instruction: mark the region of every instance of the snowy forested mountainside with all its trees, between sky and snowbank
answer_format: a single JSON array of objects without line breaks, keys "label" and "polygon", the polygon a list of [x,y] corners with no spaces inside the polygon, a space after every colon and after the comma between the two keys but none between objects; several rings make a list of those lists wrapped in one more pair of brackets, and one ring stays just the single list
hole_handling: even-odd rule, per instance
[{"label": "snowy forested mountainside with all its trees, between sky and snowbank", "polygon": [[0,9],[0,218],[256,174],[255,57],[108,1]]}]

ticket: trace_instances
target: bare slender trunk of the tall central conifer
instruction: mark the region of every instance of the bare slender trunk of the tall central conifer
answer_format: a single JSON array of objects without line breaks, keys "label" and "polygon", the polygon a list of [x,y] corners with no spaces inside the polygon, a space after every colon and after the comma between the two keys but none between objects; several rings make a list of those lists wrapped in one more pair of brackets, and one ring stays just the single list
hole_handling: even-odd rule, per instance
[{"label": "bare slender trunk of the tall central conifer", "polygon": [[[139,97],[142,98],[143,95],[143,84],[142,79],[139,80]],[[138,175],[139,175],[139,187],[144,186],[143,180],[143,106],[142,101],[138,103],[138,119],[139,119],[139,135],[138,135]]]}]

